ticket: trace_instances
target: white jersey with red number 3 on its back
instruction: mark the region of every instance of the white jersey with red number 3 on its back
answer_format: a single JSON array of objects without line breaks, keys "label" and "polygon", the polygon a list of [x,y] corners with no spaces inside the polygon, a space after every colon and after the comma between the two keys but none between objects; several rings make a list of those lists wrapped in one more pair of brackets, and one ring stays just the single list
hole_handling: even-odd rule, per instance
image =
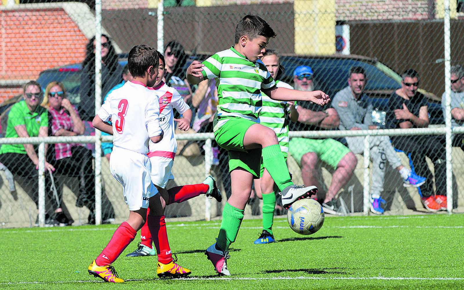
[{"label": "white jersey with red number 3 on its back", "polygon": [[131,151],[147,154],[149,138],[161,134],[158,98],[138,81],[127,81],[112,91],[98,117],[105,122],[111,118],[113,145]]}]

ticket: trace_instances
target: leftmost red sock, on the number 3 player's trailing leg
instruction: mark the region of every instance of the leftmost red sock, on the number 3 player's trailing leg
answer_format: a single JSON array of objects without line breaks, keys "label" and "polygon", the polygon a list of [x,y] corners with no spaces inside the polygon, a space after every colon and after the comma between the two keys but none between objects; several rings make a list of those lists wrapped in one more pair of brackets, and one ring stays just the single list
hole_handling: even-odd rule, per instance
[{"label": "leftmost red sock, on the number 3 player's trailing leg", "polygon": [[106,245],[102,253],[98,255],[96,263],[98,266],[106,266],[113,264],[117,257],[121,255],[122,251],[132,242],[135,238],[135,231],[128,223],[123,222],[111,237],[110,243]]}]

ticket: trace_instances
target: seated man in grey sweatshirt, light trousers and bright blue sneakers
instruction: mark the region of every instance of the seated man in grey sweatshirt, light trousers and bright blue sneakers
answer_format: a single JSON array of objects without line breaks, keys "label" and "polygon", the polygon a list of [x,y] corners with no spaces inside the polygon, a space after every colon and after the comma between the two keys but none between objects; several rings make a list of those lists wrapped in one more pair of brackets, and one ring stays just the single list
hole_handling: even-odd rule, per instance
[{"label": "seated man in grey sweatshirt, light trousers and bright blue sneakers", "polygon": [[[373,105],[369,97],[364,93],[367,77],[364,68],[353,66],[348,72],[348,86],[337,92],[332,99],[332,106],[340,118],[340,130],[375,130],[373,125]],[[348,148],[354,153],[364,152],[364,137],[346,137]],[[425,178],[416,175],[401,164],[388,136],[371,136],[369,138],[370,156],[372,156],[372,187],[369,196],[370,210],[374,214],[382,214],[384,209],[381,204],[385,200],[380,197],[385,181],[385,159],[390,165],[400,172],[404,186],[420,186],[425,183]]]}]

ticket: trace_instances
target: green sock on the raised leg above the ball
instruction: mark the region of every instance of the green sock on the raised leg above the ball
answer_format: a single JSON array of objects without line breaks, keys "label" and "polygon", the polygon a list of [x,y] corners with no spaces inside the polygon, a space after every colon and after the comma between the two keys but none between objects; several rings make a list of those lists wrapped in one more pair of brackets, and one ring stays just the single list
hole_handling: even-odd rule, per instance
[{"label": "green sock on the raised leg above the ball", "polygon": [[293,185],[284,155],[280,151],[280,145],[264,147],[262,155],[264,167],[274,179],[280,191],[283,191],[289,185]]}]

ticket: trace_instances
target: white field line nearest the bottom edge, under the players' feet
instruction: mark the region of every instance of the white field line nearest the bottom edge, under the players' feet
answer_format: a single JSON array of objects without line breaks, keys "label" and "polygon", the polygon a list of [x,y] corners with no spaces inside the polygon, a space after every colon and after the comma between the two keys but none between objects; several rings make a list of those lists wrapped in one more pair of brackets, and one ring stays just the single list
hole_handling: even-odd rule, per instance
[{"label": "white field line nearest the bottom edge, under the players' feet", "polygon": [[[164,279],[131,279],[125,280],[126,282],[130,281],[163,281]],[[176,280],[187,280],[187,281],[207,281],[207,280],[226,280],[226,281],[263,281],[263,280],[423,280],[423,281],[455,281],[455,280],[464,280],[464,278],[451,278],[451,277],[189,277],[189,278],[178,278]],[[7,282],[0,283],[0,285],[25,285],[25,284],[62,284],[62,283],[105,283],[100,280],[77,280],[77,281],[53,281],[53,282]]]}]

